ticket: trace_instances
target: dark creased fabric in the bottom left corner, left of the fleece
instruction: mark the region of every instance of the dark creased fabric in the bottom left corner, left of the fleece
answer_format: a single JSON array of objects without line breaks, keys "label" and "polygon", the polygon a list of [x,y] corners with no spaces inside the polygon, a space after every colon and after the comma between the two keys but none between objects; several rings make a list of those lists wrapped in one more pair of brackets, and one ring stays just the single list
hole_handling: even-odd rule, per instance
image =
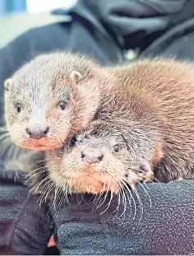
[{"label": "dark creased fabric in the bottom left corner, left of the fleece", "polygon": [[52,233],[48,207],[14,177],[0,161],[0,254],[44,254]]}]

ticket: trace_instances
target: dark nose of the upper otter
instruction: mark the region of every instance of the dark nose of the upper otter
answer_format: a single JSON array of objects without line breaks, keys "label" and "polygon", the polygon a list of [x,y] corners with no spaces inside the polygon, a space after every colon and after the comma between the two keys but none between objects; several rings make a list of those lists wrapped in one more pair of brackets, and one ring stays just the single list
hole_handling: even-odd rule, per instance
[{"label": "dark nose of the upper otter", "polygon": [[48,125],[31,125],[26,128],[26,133],[30,135],[30,138],[39,139],[41,137],[46,137],[48,133]]}]

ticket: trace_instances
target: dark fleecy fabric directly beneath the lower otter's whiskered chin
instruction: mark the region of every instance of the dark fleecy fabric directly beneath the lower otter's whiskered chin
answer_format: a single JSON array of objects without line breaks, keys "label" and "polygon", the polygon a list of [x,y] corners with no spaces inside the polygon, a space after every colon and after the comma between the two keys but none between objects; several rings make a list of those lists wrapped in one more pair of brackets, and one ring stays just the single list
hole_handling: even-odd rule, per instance
[{"label": "dark fleecy fabric directly beneath the lower otter's whiskered chin", "polygon": [[115,196],[104,212],[109,198],[93,210],[94,197],[69,197],[58,214],[53,211],[61,254],[194,254],[194,181],[147,184],[150,199],[141,185],[136,189],[142,207],[132,193],[135,217],[133,201],[125,210]]}]

